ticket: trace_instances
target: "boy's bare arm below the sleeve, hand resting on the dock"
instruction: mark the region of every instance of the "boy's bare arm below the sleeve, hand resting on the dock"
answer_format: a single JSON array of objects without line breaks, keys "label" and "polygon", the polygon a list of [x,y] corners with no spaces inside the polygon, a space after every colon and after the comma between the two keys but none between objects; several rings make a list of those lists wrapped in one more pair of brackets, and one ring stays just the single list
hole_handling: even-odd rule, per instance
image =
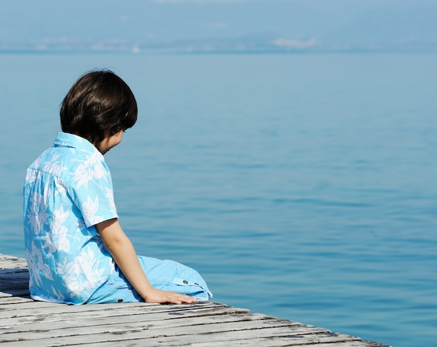
[{"label": "boy's bare arm below the sleeve, hand resting on the dock", "polygon": [[191,304],[196,302],[195,298],[188,295],[158,290],[151,286],[147,276],[142,271],[133,244],[126,236],[117,219],[110,219],[96,224],[98,233],[111,253],[115,263],[121,272],[131,283],[133,288],[140,293],[145,302]]}]

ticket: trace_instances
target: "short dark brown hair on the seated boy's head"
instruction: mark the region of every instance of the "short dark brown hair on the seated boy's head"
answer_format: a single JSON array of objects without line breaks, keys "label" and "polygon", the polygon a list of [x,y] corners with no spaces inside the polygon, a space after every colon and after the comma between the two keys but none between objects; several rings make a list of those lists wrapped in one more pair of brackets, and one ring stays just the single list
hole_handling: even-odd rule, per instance
[{"label": "short dark brown hair on the seated boy's head", "polygon": [[61,129],[101,142],[105,133],[114,135],[131,128],[137,120],[135,96],[112,71],[91,71],[73,84],[61,105]]}]

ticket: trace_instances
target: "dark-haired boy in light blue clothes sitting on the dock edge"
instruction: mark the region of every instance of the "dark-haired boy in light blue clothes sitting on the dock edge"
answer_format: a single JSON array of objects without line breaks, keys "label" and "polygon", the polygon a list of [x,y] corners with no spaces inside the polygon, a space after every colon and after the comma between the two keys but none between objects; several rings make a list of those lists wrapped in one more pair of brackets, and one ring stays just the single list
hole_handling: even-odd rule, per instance
[{"label": "dark-haired boy in light blue clothes sitting on the dock edge", "polygon": [[137,256],[118,222],[103,154],[137,119],[131,89],[111,71],[80,77],[61,105],[54,145],[27,169],[24,242],[34,300],[193,303],[209,300],[195,270]]}]

